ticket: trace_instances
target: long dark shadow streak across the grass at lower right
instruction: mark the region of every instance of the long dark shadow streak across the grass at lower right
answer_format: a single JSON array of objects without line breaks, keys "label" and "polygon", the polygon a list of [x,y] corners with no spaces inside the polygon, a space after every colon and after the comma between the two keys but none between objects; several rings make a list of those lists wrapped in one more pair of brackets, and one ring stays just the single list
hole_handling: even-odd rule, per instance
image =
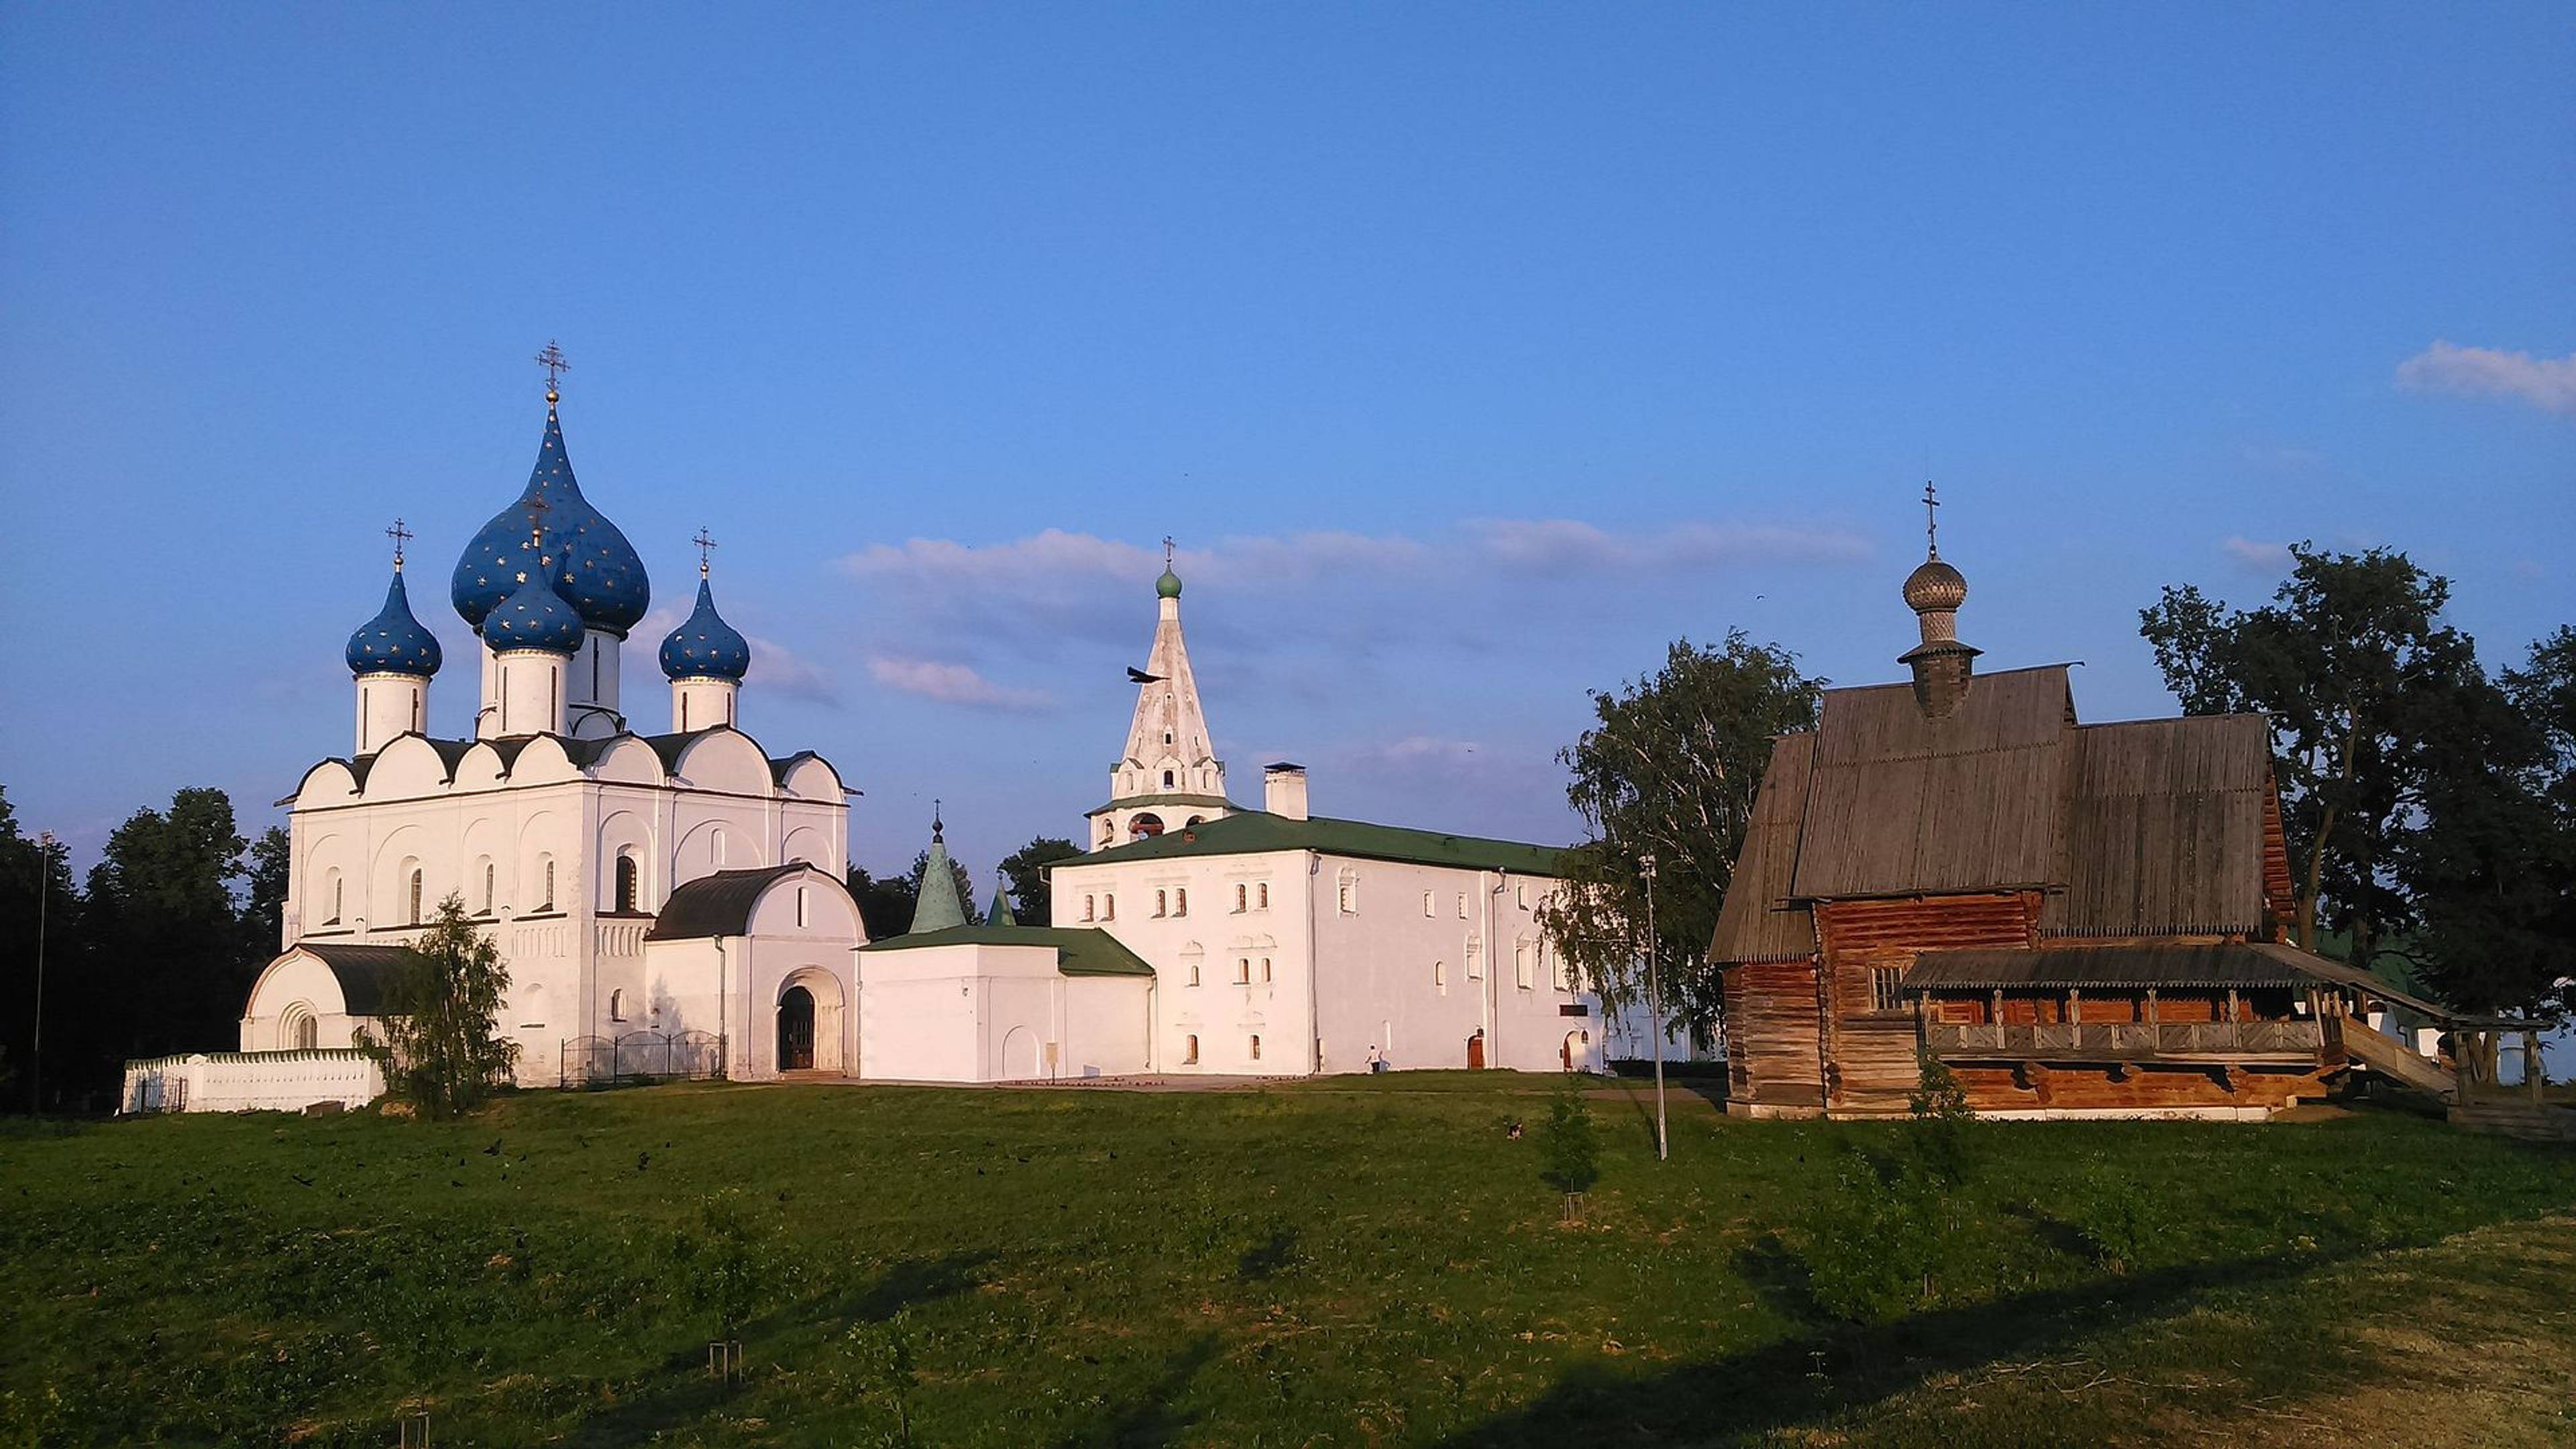
[{"label": "long dark shadow streak across the grass at lower right", "polygon": [[[1643,1377],[1582,1364],[1528,1408],[1494,1415],[1443,1444],[1556,1449],[1582,1441],[1584,1449],[1646,1449],[1829,1431],[1837,1418],[1924,1379],[2045,1356],[2071,1338],[2179,1312],[2210,1289],[2300,1279],[2349,1256],[2360,1253],[2197,1263],[1860,1328],[1829,1323],[1806,1289],[1806,1269],[1785,1245],[1765,1238],[1739,1253],[1736,1269],[1801,1325],[1798,1333]],[[2360,1364],[2303,1359],[2295,1369],[2272,1374],[2264,1387],[2331,1392],[2362,1377]]]}]

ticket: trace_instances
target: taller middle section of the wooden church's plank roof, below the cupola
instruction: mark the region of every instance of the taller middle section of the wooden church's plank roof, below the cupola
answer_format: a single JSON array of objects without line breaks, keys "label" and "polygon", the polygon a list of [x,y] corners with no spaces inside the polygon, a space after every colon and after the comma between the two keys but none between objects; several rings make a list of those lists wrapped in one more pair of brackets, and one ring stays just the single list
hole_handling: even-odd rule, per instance
[{"label": "taller middle section of the wooden church's plank roof, below the cupola", "polygon": [[1829,688],[1790,895],[1932,895],[2058,877],[2066,665],[1973,676],[1935,719],[1911,683]]}]

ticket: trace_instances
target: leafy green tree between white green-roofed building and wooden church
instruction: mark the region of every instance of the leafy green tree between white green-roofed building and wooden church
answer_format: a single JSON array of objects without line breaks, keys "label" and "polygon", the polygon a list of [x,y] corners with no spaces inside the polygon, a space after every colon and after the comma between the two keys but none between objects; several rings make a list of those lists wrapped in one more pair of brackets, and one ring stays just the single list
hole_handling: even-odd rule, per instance
[{"label": "leafy green tree between white green-roofed building and wooden church", "polygon": [[1798,657],[1728,632],[1677,639],[1664,668],[1592,694],[1592,730],[1556,758],[1589,841],[1564,853],[1569,890],[1543,913],[1556,951],[1607,1011],[1643,1000],[1643,856],[1656,859],[1654,959],[1664,1011],[1703,1047],[1718,1031],[1708,941],[1780,735],[1816,724],[1824,681]]}]

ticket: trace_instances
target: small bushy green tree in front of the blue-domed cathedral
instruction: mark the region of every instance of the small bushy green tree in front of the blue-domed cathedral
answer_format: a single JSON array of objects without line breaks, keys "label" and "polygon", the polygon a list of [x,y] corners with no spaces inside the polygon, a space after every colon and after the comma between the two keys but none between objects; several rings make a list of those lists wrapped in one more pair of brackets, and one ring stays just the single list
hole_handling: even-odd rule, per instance
[{"label": "small bushy green tree in front of the blue-domed cathedral", "polygon": [[495,1031],[510,969],[466,918],[464,897],[438,902],[386,993],[381,1039],[361,1034],[384,1065],[386,1091],[422,1116],[456,1116],[507,1085],[518,1042]]}]

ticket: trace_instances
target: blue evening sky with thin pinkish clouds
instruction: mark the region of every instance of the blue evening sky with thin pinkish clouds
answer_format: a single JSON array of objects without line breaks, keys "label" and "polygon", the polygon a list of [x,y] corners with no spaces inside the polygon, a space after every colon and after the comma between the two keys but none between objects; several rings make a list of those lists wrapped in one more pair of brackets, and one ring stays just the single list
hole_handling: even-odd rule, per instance
[{"label": "blue evening sky with thin pinkish clouds", "polygon": [[348,750],[528,356],[744,722],[989,864],[1108,781],[1182,541],[1242,799],[1569,838],[1587,688],[1741,627],[1896,678],[1924,474],[1986,665],[2172,709],[2161,583],[2280,544],[2571,614],[2550,5],[0,8],[0,784],[85,859]]}]

